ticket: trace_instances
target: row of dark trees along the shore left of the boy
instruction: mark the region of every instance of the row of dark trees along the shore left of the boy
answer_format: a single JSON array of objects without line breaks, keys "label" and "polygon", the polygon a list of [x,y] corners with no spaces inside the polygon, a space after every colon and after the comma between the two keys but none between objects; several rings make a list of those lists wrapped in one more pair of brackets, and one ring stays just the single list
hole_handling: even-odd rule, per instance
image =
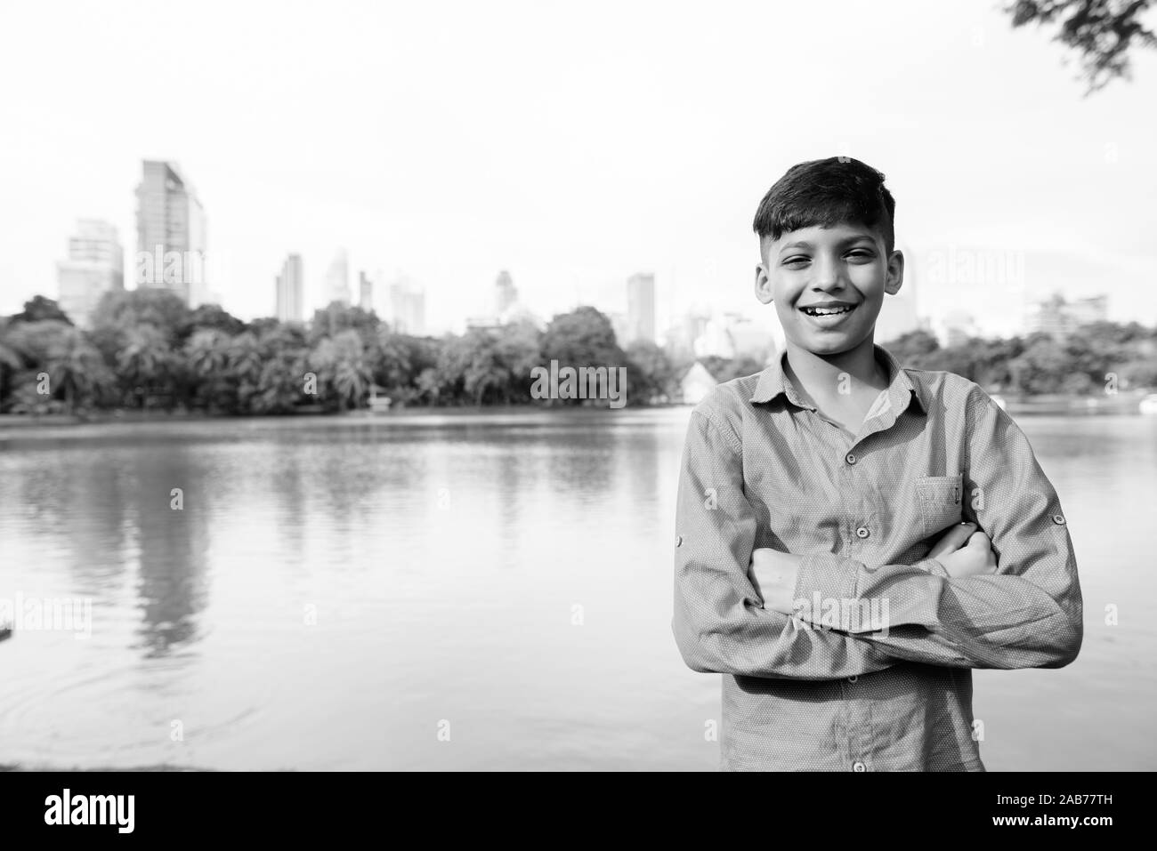
[{"label": "row of dark trees along the shore left of the boy", "polygon": [[531,369],[551,360],[626,367],[633,405],[671,398],[690,367],[654,343],[624,350],[594,308],[557,316],[545,331],[516,323],[426,338],[338,303],[309,323],[245,323],[138,289],[106,294],[87,330],[42,296],[0,319],[0,413],[337,412],[364,407],[371,385],[401,405],[524,404]]}]

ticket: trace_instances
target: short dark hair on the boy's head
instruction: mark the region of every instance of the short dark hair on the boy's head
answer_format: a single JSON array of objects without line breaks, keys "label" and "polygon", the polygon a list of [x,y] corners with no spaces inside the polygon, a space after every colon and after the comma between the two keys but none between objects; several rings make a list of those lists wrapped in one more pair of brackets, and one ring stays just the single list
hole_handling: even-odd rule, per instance
[{"label": "short dark hair on the boy's head", "polygon": [[753,227],[762,240],[801,228],[858,222],[879,230],[891,254],[894,219],[896,199],[884,186],[884,175],[858,160],[832,156],[788,169],[759,202]]}]

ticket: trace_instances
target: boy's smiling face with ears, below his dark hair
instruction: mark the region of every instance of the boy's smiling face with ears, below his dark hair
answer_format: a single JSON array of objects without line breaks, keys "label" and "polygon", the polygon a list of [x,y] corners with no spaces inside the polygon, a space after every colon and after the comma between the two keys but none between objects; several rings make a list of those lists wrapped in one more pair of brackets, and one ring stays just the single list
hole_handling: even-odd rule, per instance
[{"label": "boy's smiling face with ears, below his dark hair", "polygon": [[904,256],[887,254],[878,230],[853,222],[765,237],[760,249],[756,296],[775,303],[789,343],[817,355],[870,338],[884,294],[904,281]]}]

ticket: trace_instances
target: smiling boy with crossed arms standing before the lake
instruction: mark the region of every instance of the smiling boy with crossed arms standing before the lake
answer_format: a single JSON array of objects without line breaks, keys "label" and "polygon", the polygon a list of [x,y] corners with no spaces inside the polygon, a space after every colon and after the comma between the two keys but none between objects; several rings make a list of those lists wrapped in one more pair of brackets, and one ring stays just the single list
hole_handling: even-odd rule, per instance
[{"label": "smiling boy with crossed arms standing before the lake", "polygon": [[848,157],[772,186],[756,296],[786,352],[691,417],[672,628],[723,674],[724,770],[983,771],[971,668],[1081,649],[1073,542],[1020,429],[872,340],[904,278],[894,210]]}]

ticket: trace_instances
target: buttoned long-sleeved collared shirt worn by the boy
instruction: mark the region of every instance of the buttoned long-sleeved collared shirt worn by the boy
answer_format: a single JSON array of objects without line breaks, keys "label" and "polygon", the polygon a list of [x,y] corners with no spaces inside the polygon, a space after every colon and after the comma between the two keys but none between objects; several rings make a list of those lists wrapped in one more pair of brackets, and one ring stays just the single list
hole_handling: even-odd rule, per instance
[{"label": "buttoned long-sleeved collared shirt worn by the boy", "polygon": [[[804,401],[782,354],[694,409],[679,478],[672,629],[723,674],[727,770],[983,771],[971,668],[1061,667],[1083,636],[1056,491],[977,384],[905,369],[853,437]],[[928,552],[953,524],[993,575]],[[802,556],[791,615],[765,609],[752,550]]]}]

